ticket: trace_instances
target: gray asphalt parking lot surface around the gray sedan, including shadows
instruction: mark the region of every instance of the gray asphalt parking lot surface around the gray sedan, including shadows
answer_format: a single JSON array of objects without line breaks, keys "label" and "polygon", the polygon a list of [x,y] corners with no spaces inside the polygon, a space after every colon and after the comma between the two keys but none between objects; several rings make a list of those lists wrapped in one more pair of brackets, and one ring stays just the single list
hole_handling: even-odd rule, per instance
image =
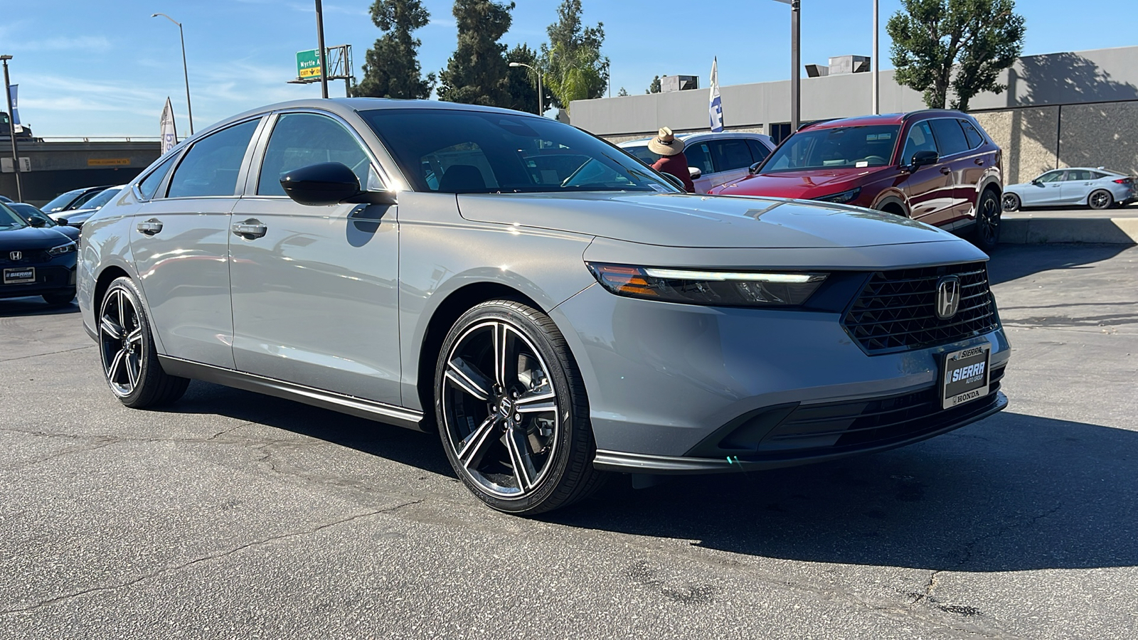
[{"label": "gray asphalt parking lot surface around the gray sedan, including shadows", "polygon": [[1132,639],[1138,247],[990,270],[1007,411],[535,520],[435,436],[201,383],[127,410],[76,307],[0,301],[0,638]]}]

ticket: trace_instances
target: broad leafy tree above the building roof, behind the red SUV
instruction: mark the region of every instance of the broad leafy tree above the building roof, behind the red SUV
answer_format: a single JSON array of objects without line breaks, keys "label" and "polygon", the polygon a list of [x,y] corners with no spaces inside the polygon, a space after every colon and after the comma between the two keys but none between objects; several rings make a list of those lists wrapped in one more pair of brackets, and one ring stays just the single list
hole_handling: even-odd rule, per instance
[{"label": "broad leafy tree above the building roof, behind the red SUV", "polygon": [[[942,108],[949,88],[953,108],[965,110],[981,91],[1000,93],[999,72],[1023,51],[1023,16],[1015,0],[902,0],[889,18],[897,82],[924,92],[925,105]],[[954,66],[955,74],[954,74]]]}]

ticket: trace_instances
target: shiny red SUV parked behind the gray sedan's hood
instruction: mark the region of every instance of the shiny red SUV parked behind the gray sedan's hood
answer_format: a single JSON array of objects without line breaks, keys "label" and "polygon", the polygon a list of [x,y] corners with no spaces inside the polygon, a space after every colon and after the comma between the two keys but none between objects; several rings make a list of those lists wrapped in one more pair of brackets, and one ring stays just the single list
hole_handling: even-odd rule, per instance
[{"label": "shiny red SUV parked behind the gray sedan's hood", "polygon": [[751,175],[709,192],[875,208],[999,241],[1001,154],[972,116],[927,109],[816,122],[799,129]]}]

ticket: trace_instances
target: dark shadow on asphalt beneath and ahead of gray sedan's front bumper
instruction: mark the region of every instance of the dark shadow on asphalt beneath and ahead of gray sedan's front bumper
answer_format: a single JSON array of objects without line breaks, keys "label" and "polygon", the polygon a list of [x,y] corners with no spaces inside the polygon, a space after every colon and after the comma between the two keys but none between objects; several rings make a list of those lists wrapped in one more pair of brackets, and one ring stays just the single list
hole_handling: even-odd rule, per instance
[{"label": "dark shadow on asphalt beneath and ahead of gray sedan's front bumper", "polygon": [[547,518],[767,558],[933,571],[1138,566],[1138,433],[1001,413],[844,461],[626,481]]}]

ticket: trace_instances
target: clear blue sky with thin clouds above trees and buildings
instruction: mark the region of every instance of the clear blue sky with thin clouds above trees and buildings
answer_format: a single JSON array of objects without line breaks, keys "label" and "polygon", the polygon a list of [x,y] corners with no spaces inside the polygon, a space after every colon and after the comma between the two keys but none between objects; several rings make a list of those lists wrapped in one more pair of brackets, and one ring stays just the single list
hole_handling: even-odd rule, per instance
[{"label": "clear blue sky with thin clouds above trees and buildings", "polygon": [[[368,17],[370,0],[324,0],[327,44],[349,43],[357,77],[364,51],[381,32]],[[544,41],[559,0],[518,0],[509,44]],[[1073,10],[1070,0],[1020,0],[1026,17],[1024,52],[1046,54],[1138,44],[1138,31],[1110,27],[1132,16],[1133,0],[1096,0]],[[438,71],[454,50],[451,0],[426,0],[431,24],[422,40],[424,71]],[[871,0],[802,0],[802,61],[869,55]],[[772,0],[584,0],[585,20],[604,23],[612,60],[612,93],[643,93],[653,75],[693,74],[706,85],[712,56],[720,84],[783,80],[790,75],[786,5]],[[889,68],[884,22],[900,7],[881,0],[882,68]],[[319,85],[287,84],[296,51],[315,48],[312,0],[2,0],[0,54],[10,54],[20,85],[20,116],[36,136],[157,136],[167,96],[179,134],[185,93],[178,27],[185,28],[190,91],[197,128],[259,105],[316,97]],[[344,83],[332,85],[344,95]]]}]

